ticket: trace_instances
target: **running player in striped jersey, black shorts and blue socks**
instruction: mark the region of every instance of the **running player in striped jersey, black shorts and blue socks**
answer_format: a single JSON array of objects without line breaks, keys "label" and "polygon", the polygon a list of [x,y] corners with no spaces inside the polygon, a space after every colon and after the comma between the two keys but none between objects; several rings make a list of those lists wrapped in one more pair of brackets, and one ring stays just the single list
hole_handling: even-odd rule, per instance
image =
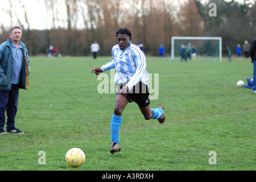
[{"label": "running player in striped jersey, black shorts and blue socks", "polygon": [[111,122],[112,148],[110,152],[121,151],[119,146],[119,129],[122,124],[122,113],[129,102],[136,102],[145,119],[158,119],[163,123],[166,119],[163,106],[150,108],[149,92],[147,88],[148,73],[146,71],[146,57],[141,49],[132,44],[131,32],[127,28],[120,28],[116,32],[117,42],[112,48],[113,60],[102,67],[94,68],[92,73],[98,76],[101,72],[115,68],[114,81],[118,85],[115,97],[115,109]]}]

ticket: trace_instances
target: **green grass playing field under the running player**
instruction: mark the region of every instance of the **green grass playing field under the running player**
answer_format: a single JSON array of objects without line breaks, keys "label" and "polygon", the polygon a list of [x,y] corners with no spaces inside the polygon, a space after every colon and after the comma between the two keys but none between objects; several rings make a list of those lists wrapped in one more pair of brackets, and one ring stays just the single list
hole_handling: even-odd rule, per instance
[{"label": "green grass playing field under the running player", "polygon": [[[146,121],[137,104],[127,105],[120,130],[122,151],[110,154],[115,94],[100,94],[91,73],[111,57],[30,57],[30,90],[20,90],[16,127],[24,134],[0,135],[0,170],[172,171],[255,170],[256,94],[236,82],[253,76],[249,59],[222,63],[197,58],[180,63],[147,57],[148,73],[159,73],[166,122]],[[109,74],[109,72],[106,72]],[[6,130],[6,126],[5,126]],[[66,152],[85,152],[71,168]],[[39,164],[39,151],[46,164]],[[217,164],[209,164],[215,151]]]}]

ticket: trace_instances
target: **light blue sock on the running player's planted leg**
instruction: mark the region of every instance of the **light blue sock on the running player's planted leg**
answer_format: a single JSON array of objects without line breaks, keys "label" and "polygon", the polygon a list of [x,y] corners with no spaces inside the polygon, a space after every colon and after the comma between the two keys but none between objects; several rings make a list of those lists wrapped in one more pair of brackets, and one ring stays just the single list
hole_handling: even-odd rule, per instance
[{"label": "light blue sock on the running player's planted leg", "polygon": [[111,121],[111,139],[112,139],[112,143],[113,142],[120,143],[119,130],[120,130],[121,125],[122,125],[122,116],[118,116],[118,115],[113,114],[112,121]]}]

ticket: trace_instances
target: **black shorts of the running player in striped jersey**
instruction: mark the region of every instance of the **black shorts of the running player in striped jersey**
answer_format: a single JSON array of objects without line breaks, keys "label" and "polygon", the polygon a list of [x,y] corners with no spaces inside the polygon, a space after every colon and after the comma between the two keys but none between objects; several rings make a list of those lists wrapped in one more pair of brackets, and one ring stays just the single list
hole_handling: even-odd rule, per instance
[{"label": "black shorts of the running player in striped jersey", "polygon": [[[126,84],[118,84],[118,91],[117,94],[120,93],[120,90],[125,86]],[[138,106],[140,107],[146,107],[150,105],[150,100],[149,100],[149,90],[148,86],[142,82],[138,82],[137,85],[133,87],[129,91],[129,93],[126,95],[127,100],[129,102],[136,102]]]}]

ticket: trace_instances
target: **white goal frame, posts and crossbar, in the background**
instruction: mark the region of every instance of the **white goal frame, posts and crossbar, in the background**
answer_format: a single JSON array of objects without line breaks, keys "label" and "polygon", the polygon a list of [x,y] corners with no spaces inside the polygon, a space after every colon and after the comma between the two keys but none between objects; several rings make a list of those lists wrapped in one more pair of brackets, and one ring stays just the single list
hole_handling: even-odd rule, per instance
[{"label": "white goal frame, posts and crossbar, in the background", "polygon": [[219,41],[219,56],[220,62],[222,62],[222,38],[221,37],[209,37],[209,36],[172,36],[171,43],[171,59],[174,60],[174,46],[175,40],[218,40]]}]

